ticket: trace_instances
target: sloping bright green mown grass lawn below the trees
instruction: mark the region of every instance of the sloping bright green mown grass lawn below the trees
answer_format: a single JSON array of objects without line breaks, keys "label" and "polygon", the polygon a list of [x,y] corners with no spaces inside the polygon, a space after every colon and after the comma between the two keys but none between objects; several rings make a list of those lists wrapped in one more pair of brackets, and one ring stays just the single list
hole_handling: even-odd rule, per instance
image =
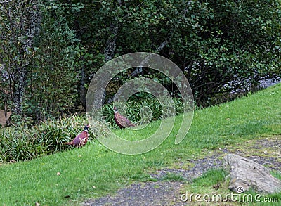
[{"label": "sloping bright green mown grass lawn below the trees", "polygon": [[[76,205],[87,198],[112,193],[133,181],[152,181],[148,175],[150,172],[162,167],[178,167],[177,162],[204,157],[216,148],[235,146],[260,136],[280,135],[280,100],[281,84],[277,84],[230,103],[196,110],[188,135],[175,145],[181,123],[179,115],[166,141],[141,155],[115,153],[91,139],[84,148],[1,165],[0,203]],[[142,131],[123,129],[115,132],[119,136],[133,134],[133,139],[142,139],[158,126],[159,122],[152,122]],[[223,176],[221,172],[216,172],[216,175],[218,179]],[[203,178],[208,179],[206,176]],[[200,184],[201,181],[197,181],[197,186],[204,186]]]}]

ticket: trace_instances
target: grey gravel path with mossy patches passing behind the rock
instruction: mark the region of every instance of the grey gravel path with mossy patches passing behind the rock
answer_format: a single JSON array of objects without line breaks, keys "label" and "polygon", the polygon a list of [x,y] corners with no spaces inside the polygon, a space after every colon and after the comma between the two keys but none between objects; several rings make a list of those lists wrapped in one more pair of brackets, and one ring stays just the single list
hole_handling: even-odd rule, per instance
[{"label": "grey gravel path with mossy patches passing behind the rock", "polygon": [[[281,136],[275,136],[214,150],[207,157],[191,160],[189,164],[194,167],[190,169],[162,169],[150,174],[157,179],[156,182],[131,184],[114,195],[87,200],[82,205],[186,205],[181,201],[181,186],[184,182],[191,181],[211,168],[222,167],[223,156],[227,153],[242,155],[281,172]],[[180,164],[182,166],[186,162]],[[182,176],[183,181],[163,181],[163,177],[171,173]]]}]

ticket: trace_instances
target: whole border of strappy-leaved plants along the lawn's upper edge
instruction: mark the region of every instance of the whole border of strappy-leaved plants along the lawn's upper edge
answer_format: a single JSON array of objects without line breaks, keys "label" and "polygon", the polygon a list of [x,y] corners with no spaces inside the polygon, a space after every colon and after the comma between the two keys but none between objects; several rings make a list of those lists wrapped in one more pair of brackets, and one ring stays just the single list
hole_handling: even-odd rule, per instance
[{"label": "whole border of strappy-leaved plants along the lawn's upper edge", "polygon": [[[162,105],[156,98],[145,98],[139,101],[129,100],[126,104],[126,116],[132,122],[144,123],[141,122],[140,110],[145,106],[152,111],[152,120],[162,119]],[[174,98],[174,104],[176,114],[183,112],[181,99]],[[103,115],[107,124],[112,129],[117,129],[112,107],[112,104],[104,105]],[[0,129],[0,162],[27,161],[70,148],[63,143],[74,139],[87,123],[86,117],[69,117],[42,122],[30,128],[20,124]],[[103,127],[98,127],[98,125],[92,125],[90,129],[95,131],[97,136],[103,132]],[[91,139],[93,139],[93,134],[90,132],[90,141]]]}]

